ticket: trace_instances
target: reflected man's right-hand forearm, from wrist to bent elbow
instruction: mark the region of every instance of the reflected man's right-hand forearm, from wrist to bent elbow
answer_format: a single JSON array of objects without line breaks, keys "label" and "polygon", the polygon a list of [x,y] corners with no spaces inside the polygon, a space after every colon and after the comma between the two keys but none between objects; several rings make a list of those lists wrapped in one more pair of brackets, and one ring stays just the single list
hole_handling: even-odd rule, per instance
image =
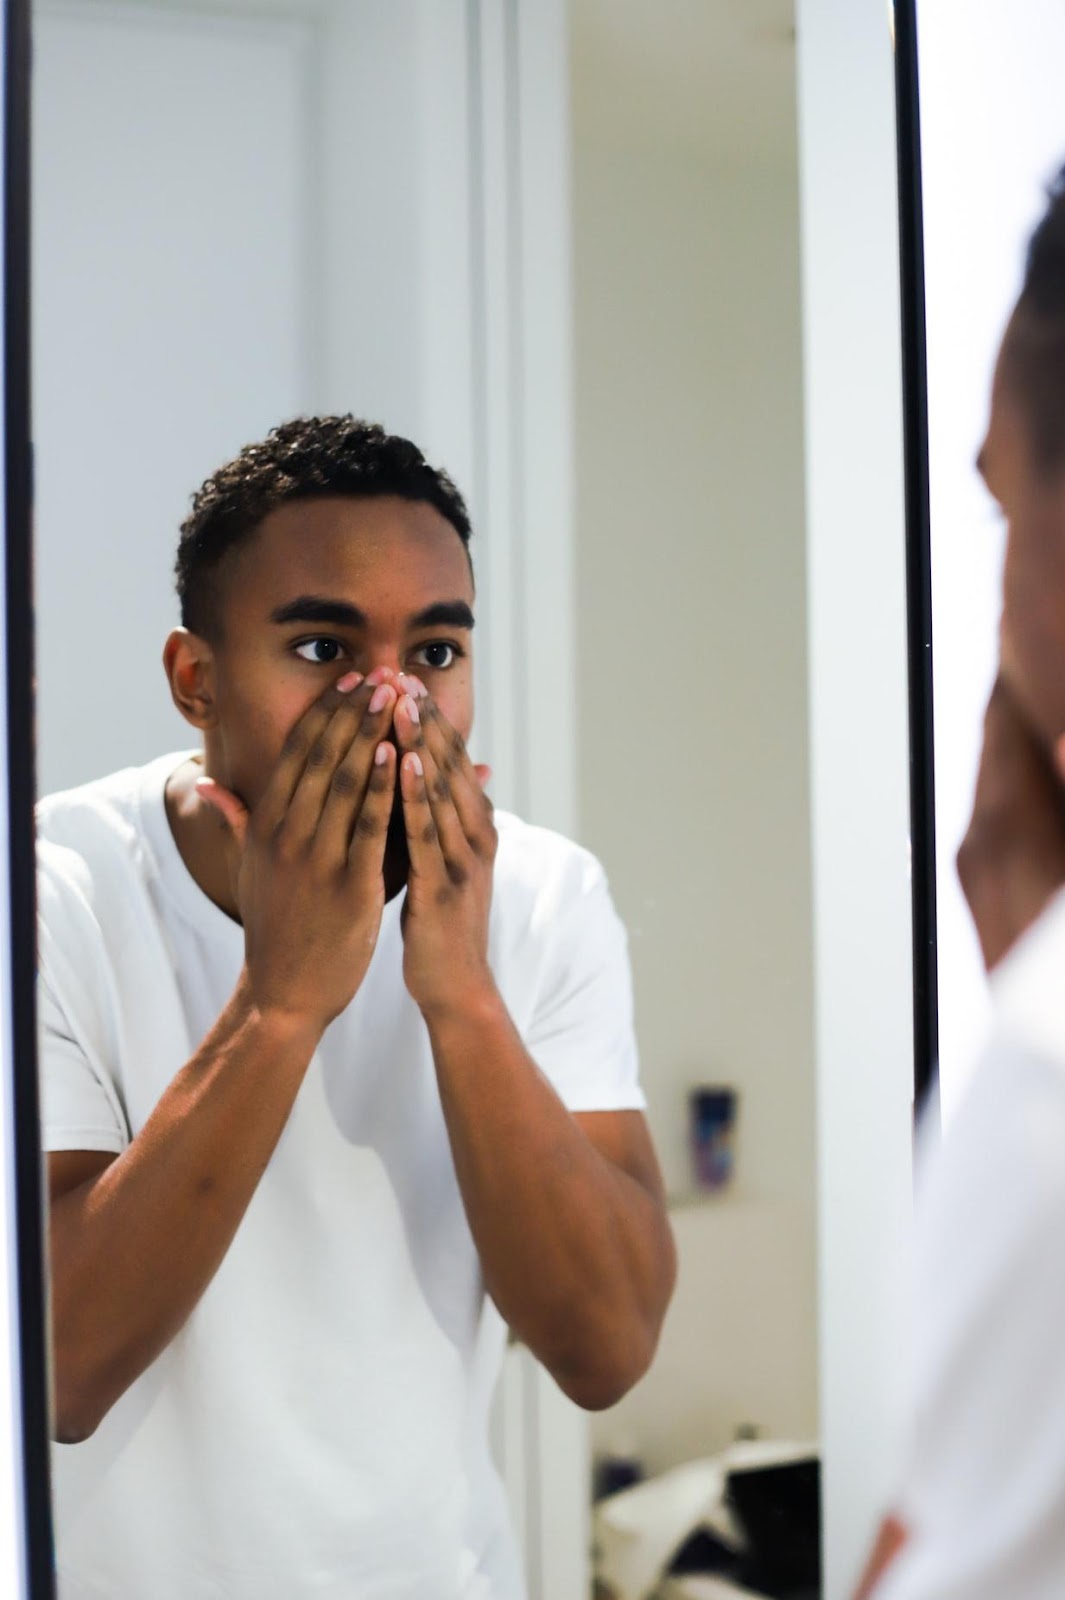
[{"label": "reflected man's right-hand forearm, from wrist to bent elbow", "polygon": [[427,1021],[486,1288],[571,1398],[612,1405],[646,1370],[673,1283],[657,1174],[595,1149],[497,994]]}]

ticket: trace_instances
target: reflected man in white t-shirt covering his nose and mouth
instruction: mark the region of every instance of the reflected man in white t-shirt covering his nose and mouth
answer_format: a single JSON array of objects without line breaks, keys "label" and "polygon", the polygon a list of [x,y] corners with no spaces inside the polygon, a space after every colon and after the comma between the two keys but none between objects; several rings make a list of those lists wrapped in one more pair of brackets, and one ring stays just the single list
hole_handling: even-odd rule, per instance
[{"label": "reflected man in white t-shirt covering his nose and mouth", "polygon": [[62,1600],[517,1600],[507,1325],[590,1408],[651,1360],[625,938],[467,755],[469,533],[409,442],[275,429],[182,528],[203,749],[42,802]]}]

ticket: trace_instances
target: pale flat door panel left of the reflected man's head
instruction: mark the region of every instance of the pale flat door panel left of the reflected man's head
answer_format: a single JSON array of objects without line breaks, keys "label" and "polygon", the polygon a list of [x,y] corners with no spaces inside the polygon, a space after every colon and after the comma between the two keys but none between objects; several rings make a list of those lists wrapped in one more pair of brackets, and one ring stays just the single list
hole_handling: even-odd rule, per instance
[{"label": "pale flat door panel left of the reflected man's head", "polygon": [[309,62],[294,22],[106,5],[42,6],[34,56],[46,794],[195,742],[160,664],[178,525],[310,400]]}]

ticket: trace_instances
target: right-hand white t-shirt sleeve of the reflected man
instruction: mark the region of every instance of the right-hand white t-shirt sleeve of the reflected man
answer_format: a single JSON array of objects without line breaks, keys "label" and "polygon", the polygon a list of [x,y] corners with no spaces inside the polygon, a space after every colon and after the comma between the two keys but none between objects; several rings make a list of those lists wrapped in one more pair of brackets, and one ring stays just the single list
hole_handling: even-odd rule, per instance
[{"label": "right-hand white t-shirt sleeve of the reflected man", "polygon": [[525,1042],[569,1110],[643,1110],[625,928],[585,851],[574,880],[550,917]]}]

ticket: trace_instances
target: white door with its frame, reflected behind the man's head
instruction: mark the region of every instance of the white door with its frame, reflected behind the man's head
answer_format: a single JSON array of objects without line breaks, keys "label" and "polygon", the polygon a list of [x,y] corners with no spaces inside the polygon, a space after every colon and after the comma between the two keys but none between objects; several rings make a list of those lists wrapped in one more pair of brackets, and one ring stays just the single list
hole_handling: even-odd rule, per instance
[{"label": "white door with its frame, reflected behind the man's head", "polygon": [[42,790],[187,744],[157,662],[189,496],[350,410],[467,494],[477,755],[497,803],[571,827],[563,0],[35,18]]}]

